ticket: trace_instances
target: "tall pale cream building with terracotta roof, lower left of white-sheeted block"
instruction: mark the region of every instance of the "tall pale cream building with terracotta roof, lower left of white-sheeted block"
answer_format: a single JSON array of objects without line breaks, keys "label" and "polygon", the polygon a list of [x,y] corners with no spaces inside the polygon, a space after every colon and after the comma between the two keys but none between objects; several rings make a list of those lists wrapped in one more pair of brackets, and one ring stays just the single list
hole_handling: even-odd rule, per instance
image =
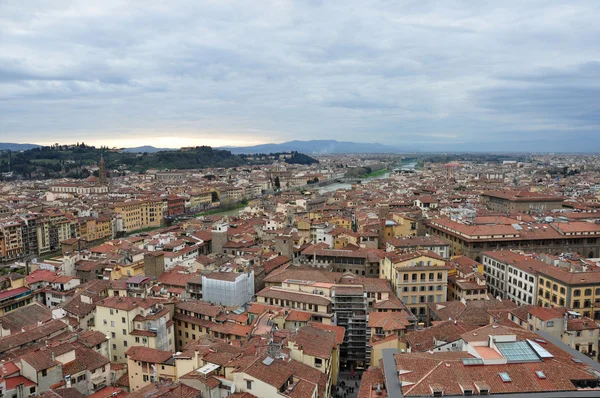
[{"label": "tall pale cream building with terracotta roof, lower left of white-sheeted block", "polygon": [[92,329],[110,336],[112,362],[126,362],[125,353],[133,346],[175,351],[171,313],[156,299],[109,297],[99,301]]}]

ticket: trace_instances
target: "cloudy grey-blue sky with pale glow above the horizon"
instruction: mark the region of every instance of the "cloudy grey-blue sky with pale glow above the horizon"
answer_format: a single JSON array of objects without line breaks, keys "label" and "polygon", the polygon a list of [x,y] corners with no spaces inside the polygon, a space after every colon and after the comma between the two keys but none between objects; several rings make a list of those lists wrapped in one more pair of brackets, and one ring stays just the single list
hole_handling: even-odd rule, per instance
[{"label": "cloudy grey-blue sky with pale glow above the horizon", "polygon": [[600,2],[0,2],[0,141],[600,151]]}]

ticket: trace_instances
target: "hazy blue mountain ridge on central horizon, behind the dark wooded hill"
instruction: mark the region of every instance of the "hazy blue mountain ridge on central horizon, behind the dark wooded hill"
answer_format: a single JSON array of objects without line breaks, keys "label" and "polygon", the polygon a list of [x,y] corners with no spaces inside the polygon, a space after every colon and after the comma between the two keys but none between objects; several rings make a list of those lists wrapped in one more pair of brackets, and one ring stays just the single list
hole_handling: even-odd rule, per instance
[{"label": "hazy blue mountain ridge on central horizon, behind the dark wooded hill", "polygon": [[400,149],[394,146],[372,143],[344,142],[335,140],[288,141],[281,144],[262,144],[245,147],[223,147],[235,154],[301,152],[307,155],[332,153],[396,153]]}]

